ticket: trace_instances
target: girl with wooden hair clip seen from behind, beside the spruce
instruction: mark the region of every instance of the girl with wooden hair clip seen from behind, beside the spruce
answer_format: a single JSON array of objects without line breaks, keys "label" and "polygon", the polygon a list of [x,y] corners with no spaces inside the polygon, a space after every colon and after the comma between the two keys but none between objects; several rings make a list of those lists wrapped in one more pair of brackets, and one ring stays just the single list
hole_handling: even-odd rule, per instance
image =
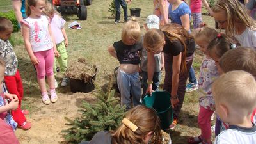
[{"label": "girl with wooden hair clip seen from behind, beside the spruce", "polygon": [[[137,127],[137,128],[136,128]],[[154,136],[154,139],[151,138]],[[162,134],[160,120],[153,109],[136,106],[129,110],[122,124],[115,131],[101,131],[93,136],[89,144],[129,144],[129,143],[161,143]],[[86,144],[84,141],[80,144]]]}]

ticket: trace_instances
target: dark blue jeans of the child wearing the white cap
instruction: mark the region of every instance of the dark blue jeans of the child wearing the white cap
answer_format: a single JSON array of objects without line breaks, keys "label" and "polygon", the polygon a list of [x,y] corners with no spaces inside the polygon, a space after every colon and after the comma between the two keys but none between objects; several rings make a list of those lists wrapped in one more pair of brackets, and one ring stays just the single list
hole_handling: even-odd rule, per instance
[{"label": "dark blue jeans of the child wearing the white cap", "polygon": [[[148,72],[142,71],[141,75],[142,75],[141,86],[143,88],[143,95],[142,96],[144,97],[147,94],[145,92],[148,88],[148,84],[147,84]],[[158,90],[160,81],[161,81],[161,71],[154,72],[152,90]]]}]

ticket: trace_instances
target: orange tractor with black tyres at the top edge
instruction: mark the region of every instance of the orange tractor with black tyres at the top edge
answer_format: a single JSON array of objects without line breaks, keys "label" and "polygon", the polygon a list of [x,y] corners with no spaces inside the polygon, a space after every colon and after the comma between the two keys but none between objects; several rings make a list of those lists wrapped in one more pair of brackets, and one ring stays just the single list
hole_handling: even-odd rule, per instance
[{"label": "orange tractor with black tyres at the top edge", "polygon": [[87,19],[86,6],[92,4],[92,0],[52,0],[56,10],[64,15],[77,14],[79,20]]}]

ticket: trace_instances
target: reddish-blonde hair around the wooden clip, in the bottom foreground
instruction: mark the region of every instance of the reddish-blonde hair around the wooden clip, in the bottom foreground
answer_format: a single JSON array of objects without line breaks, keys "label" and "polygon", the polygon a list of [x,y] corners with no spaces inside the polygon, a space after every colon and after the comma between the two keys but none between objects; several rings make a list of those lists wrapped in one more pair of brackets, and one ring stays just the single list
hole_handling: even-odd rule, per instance
[{"label": "reddish-blonde hair around the wooden clip, in the bottom foreground", "polygon": [[154,109],[150,109],[142,105],[136,106],[127,111],[125,118],[136,125],[138,129],[133,132],[124,124],[120,125],[116,131],[111,131],[113,144],[141,144],[143,143],[143,138],[151,131],[155,136],[152,143],[161,143],[162,134],[160,120]]}]

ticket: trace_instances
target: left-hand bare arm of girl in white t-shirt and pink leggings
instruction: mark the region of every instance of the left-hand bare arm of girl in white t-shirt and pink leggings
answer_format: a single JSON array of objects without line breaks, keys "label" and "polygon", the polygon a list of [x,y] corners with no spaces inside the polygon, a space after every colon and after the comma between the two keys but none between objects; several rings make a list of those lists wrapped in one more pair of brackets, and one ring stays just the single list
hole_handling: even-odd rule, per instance
[{"label": "left-hand bare arm of girl in white t-shirt and pink leggings", "polygon": [[26,26],[25,24],[24,24],[24,26],[22,26],[22,35],[23,35],[25,47],[26,47],[26,50],[28,52],[31,62],[33,63],[33,65],[38,65],[40,63],[40,61],[34,55],[34,52],[32,50],[30,40],[29,40],[29,27]]}]

